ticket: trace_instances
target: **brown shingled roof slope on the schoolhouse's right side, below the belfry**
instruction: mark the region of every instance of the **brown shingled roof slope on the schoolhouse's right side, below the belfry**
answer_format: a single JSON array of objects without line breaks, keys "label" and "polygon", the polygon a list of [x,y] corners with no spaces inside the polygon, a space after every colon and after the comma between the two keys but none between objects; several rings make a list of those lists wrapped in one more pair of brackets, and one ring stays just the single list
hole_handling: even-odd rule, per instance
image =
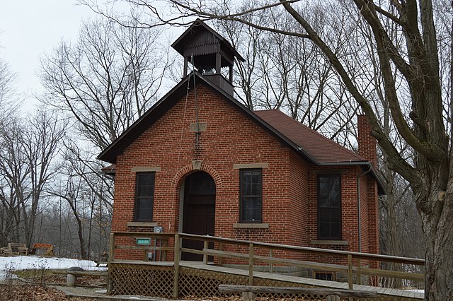
[{"label": "brown shingled roof slope on the schoolhouse's right side, below the belfry", "polygon": [[279,110],[255,111],[254,113],[321,164],[367,161],[357,153],[340,146]]}]

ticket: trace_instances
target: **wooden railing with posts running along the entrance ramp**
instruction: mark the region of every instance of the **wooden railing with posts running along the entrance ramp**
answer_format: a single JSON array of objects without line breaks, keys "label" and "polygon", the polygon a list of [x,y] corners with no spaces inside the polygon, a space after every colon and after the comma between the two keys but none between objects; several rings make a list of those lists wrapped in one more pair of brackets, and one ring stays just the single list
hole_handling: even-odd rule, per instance
[{"label": "wooden railing with posts running along the entrance ramp", "polygon": [[[118,237],[142,238],[149,239],[147,245],[117,244]],[[154,244],[152,244],[154,240]],[[156,245],[155,241],[159,240],[161,243]],[[198,240],[203,242],[202,249],[190,249],[182,247],[183,240]],[[210,244],[212,243],[212,244]],[[173,244],[173,246],[171,246]],[[226,246],[229,251],[224,250]],[[238,248],[238,247],[242,247]],[[398,264],[406,264],[413,266],[423,266],[425,261],[423,259],[406,258],[401,256],[389,256],[380,254],[367,254],[359,252],[339,251],[332,249],[319,249],[313,247],[297,247],[285,244],[272,244],[265,242],[251,242],[246,240],[234,240],[224,237],[212,237],[203,235],[193,235],[187,233],[168,232],[168,233],[154,233],[154,232],[112,232],[110,234],[110,256],[109,264],[115,261],[115,251],[117,249],[133,249],[142,250],[144,252],[144,260],[147,260],[147,252],[161,252],[159,256],[160,261],[166,261],[168,253],[173,254],[174,261],[174,288],[173,296],[178,297],[178,275],[180,268],[180,258],[182,252],[192,254],[202,254],[203,263],[207,264],[209,256],[213,256],[216,264],[222,265],[224,259],[236,259],[248,261],[248,283],[253,285],[253,269],[256,264],[268,264],[270,273],[273,272],[275,266],[295,266],[301,268],[309,268],[314,271],[335,271],[343,272],[348,276],[348,287],[352,290],[353,276],[356,274],[357,281],[360,283],[361,275],[386,277],[386,278],[401,278],[411,281],[423,281],[424,275],[421,273],[406,273],[400,271],[389,271],[379,268],[367,268],[360,264],[363,260],[375,263],[391,262]],[[233,249],[234,251],[231,251]],[[241,249],[238,251],[238,249]],[[263,249],[267,250],[268,256],[263,256]],[[328,258],[335,257],[339,261],[343,260],[348,264],[325,264],[315,261],[303,261],[298,259],[287,259],[275,256],[277,251],[292,252],[295,254],[314,254],[317,256],[326,256]],[[265,253],[265,252],[264,252]],[[154,255],[154,260],[156,256]],[[109,265],[110,266],[110,265]],[[379,265],[378,265],[379,266]],[[109,281],[109,290],[111,283]]]}]

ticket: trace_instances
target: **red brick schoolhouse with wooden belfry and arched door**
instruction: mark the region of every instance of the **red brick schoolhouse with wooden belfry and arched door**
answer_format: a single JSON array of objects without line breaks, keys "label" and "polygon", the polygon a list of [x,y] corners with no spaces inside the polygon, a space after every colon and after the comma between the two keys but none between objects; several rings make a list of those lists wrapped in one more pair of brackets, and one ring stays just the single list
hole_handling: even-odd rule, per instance
[{"label": "red brick schoolhouse with wooden belfry and arched door", "polygon": [[364,116],[357,154],[279,110],[234,99],[234,58],[243,58],[205,23],[172,47],[184,57],[180,83],[98,157],[115,166],[112,231],[379,252],[383,190]]}]

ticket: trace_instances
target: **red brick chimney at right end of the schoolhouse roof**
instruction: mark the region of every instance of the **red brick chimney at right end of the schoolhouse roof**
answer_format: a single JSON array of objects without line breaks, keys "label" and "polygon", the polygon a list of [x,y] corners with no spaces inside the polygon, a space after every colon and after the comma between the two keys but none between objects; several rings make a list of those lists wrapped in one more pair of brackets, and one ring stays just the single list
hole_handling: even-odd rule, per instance
[{"label": "red brick chimney at right end of the schoolhouse roof", "polygon": [[369,160],[373,167],[377,168],[376,139],[371,136],[371,124],[366,115],[357,115],[357,130],[359,155]]}]

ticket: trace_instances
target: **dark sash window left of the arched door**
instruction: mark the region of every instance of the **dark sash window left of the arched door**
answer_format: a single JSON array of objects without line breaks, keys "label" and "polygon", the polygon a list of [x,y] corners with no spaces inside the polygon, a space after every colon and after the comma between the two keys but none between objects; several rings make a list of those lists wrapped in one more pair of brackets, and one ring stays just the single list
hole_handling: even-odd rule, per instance
[{"label": "dark sash window left of the arched door", "polygon": [[154,172],[137,172],[135,179],[134,220],[151,222],[154,205]]}]

